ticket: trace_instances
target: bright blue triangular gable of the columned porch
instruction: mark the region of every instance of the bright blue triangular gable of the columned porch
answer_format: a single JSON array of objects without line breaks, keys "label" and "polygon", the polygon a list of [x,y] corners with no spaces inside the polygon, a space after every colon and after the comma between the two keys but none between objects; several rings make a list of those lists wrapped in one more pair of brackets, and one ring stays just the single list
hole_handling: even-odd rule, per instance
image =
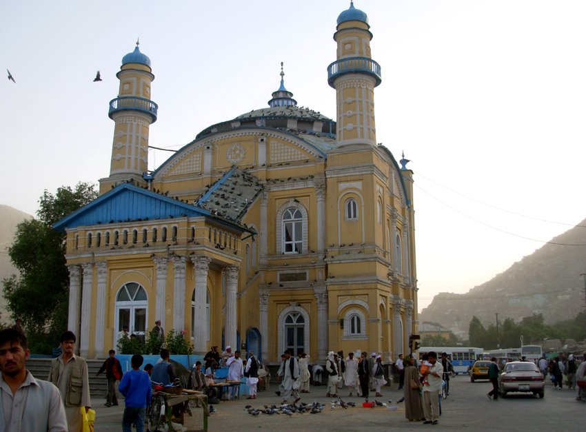
[{"label": "bright blue triangular gable of the columned porch", "polygon": [[[148,189],[123,183],[106,192],[88,205],[59,220],[54,229],[64,231],[102,223],[128,222],[130,220],[154,220],[184,216],[208,216],[216,218],[208,210],[196,207]],[[225,223],[230,223],[225,221]],[[237,227],[238,225],[230,223]],[[242,227],[240,227],[243,229]]]}]

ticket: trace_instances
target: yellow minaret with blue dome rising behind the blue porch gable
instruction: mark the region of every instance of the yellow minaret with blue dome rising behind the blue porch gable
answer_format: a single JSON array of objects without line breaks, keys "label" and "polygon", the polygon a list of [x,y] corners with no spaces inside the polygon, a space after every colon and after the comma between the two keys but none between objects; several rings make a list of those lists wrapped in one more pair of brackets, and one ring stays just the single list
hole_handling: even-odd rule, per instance
[{"label": "yellow minaret with blue dome rising behind the blue porch gable", "polygon": [[108,116],[114,125],[110,176],[100,181],[101,192],[121,181],[142,184],[148,169],[148,132],[156,121],[158,106],[150,100],[154,80],[150,59],[137,48],[122,58],[118,97],[110,101]]}]

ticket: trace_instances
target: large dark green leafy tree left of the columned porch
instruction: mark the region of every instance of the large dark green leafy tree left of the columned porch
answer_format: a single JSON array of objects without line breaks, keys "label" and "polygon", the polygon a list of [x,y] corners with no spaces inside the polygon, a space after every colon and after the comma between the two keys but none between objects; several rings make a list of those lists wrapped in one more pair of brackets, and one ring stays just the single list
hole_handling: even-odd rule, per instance
[{"label": "large dark green leafy tree left of the columned porch", "polygon": [[8,255],[20,275],[4,279],[3,290],[8,310],[23,322],[32,351],[50,352],[67,327],[65,233],[55,231],[52,224],[97,196],[90,183],[78,183],[74,189],[59,187],[55,195],[46,190],[39,198],[38,218],[17,225]]}]

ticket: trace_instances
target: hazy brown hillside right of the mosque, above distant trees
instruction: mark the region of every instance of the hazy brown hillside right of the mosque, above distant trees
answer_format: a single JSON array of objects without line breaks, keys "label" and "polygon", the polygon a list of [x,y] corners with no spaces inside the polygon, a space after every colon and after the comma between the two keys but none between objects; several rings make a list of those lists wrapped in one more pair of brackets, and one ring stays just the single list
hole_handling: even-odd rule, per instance
[{"label": "hazy brown hillside right of the mosque, above distant trees", "polygon": [[465,340],[472,316],[485,325],[496,322],[495,313],[499,322],[532,313],[543,313],[547,324],[574,318],[586,307],[580,277],[586,273],[585,227],[586,220],[466,294],[437,294],[420,321],[438,322]]}]

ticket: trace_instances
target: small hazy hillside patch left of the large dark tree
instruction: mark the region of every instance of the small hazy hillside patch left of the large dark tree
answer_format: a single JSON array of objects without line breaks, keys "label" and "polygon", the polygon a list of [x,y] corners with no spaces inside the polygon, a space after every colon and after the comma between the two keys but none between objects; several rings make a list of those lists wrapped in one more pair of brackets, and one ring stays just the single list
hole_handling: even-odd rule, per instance
[{"label": "small hazy hillside patch left of the large dark tree", "polygon": [[[32,216],[14,209],[8,205],[0,205],[0,280],[8,278],[12,274],[18,274],[17,269],[10,263],[8,256],[8,247],[14,241],[14,233],[17,230],[17,225],[25,219],[30,219]],[[2,289],[0,287],[0,322],[8,324],[11,321],[8,312],[6,311],[6,302],[2,296]]]}]

